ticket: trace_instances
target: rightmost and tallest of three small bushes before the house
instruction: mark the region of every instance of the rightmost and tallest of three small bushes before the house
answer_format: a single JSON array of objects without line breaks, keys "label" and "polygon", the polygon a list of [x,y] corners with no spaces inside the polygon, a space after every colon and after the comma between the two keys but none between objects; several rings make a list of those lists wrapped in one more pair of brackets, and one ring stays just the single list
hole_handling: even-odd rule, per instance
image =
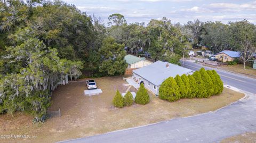
[{"label": "rightmost and tallest of three small bushes before the house", "polygon": [[144,84],[140,84],[140,88],[135,96],[135,103],[145,105],[149,103],[149,95]]}]

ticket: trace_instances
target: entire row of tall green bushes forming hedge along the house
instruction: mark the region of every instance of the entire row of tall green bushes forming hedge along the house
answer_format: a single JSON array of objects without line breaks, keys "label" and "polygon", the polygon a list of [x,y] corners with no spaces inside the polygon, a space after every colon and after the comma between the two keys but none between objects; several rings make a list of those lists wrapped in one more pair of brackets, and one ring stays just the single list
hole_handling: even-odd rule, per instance
[{"label": "entire row of tall green bushes forming hedge along the house", "polygon": [[174,102],[180,98],[209,98],[223,91],[220,75],[203,68],[192,75],[177,75],[167,78],[159,88],[159,98]]}]

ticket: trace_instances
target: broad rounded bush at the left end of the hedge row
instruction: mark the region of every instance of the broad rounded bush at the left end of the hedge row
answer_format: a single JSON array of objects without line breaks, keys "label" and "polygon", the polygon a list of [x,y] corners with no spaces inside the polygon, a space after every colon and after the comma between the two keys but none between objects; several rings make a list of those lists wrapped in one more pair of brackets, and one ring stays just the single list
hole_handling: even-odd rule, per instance
[{"label": "broad rounded bush at the left end of the hedge row", "polygon": [[180,99],[179,86],[176,81],[169,77],[167,78],[159,88],[159,98],[174,102]]}]

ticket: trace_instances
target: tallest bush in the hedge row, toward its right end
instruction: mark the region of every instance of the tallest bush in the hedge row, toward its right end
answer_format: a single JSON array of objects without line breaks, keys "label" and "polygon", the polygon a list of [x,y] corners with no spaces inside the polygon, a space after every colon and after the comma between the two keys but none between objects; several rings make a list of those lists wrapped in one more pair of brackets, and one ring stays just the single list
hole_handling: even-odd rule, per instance
[{"label": "tallest bush in the hedge row, toward its right end", "polygon": [[204,86],[206,90],[206,94],[204,97],[209,98],[214,94],[212,79],[210,75],[204,70],[204,68],[201,68],[199,70],[199,73],[201,74],[202,80],[204,81]]}]

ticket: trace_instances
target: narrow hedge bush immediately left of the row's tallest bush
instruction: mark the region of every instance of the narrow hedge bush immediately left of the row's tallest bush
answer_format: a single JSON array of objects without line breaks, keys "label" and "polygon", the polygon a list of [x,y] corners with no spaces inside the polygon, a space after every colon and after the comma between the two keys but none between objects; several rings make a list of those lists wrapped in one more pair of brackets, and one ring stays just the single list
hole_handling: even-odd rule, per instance
[{"label": "narrow hedge bush immediately left of the row's tallest bush", "polygon": [[198,87],[196,97],[197,98],[205,97],[207,95],[206,93],[207,90],[205,90],[205,84],[204,84],[204,81],[202,80],[201,74],[198,71],[195,71],[193,73],[193,77],[195,78],[196,85]]}]

